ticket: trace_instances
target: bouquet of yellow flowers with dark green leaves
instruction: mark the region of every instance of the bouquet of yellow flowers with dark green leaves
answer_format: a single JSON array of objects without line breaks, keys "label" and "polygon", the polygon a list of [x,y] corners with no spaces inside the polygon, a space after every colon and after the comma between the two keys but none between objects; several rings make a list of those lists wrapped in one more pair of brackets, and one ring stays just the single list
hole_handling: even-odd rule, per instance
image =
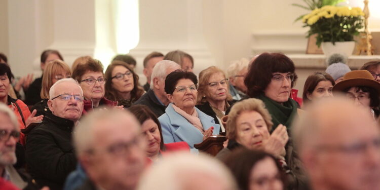
[{"label": "bouquet of yellow flowers with dark green leaves", "polygon": [[354,41],[363,28],[363,11],[358,8],[323,6],[302,17],[303,27],[310,27],[308,37],[317,34],[317,45],[322,42]]}]

